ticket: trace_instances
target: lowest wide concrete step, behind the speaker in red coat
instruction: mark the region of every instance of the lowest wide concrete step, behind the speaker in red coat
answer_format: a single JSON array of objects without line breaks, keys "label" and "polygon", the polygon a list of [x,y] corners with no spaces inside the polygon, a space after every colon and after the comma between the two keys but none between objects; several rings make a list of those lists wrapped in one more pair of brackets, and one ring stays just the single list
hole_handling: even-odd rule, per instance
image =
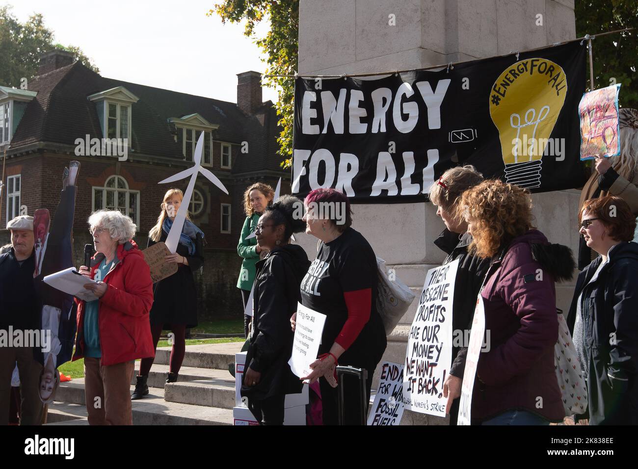
[{"label": "lowest wide concrete step, behind the speaker in red coat", "polygon": [[[176,383],[170,383],[174,385]],[[131,392],[135,387],[131,386]],[[60,383],[57,389],[56,399],[52,410],[60,413],[72,409],[75,415],[86,416],[84,399],[84,379],[74,379],[70,382]],[[77,405],[77,407],[73,407]],[[83,411],[80,410],[80,407]],[[50,410],[50,413],[52,412]],[[83,412],[83,413],[80,413]],[[54,417],[55,418],[55,417]],[[82,419],[76,419],[78,425],[85,424]],[[70,421],[71,422],[71,421]],[[54,424],[59,422],[54,422]],[[72,423],[68,423],[72,424]],[[164,390],[152,388],[144,399],[133,401],[134,425],[232,425],[232,408],[219,408],[212,406],[189,405],[164,400]]]}]

